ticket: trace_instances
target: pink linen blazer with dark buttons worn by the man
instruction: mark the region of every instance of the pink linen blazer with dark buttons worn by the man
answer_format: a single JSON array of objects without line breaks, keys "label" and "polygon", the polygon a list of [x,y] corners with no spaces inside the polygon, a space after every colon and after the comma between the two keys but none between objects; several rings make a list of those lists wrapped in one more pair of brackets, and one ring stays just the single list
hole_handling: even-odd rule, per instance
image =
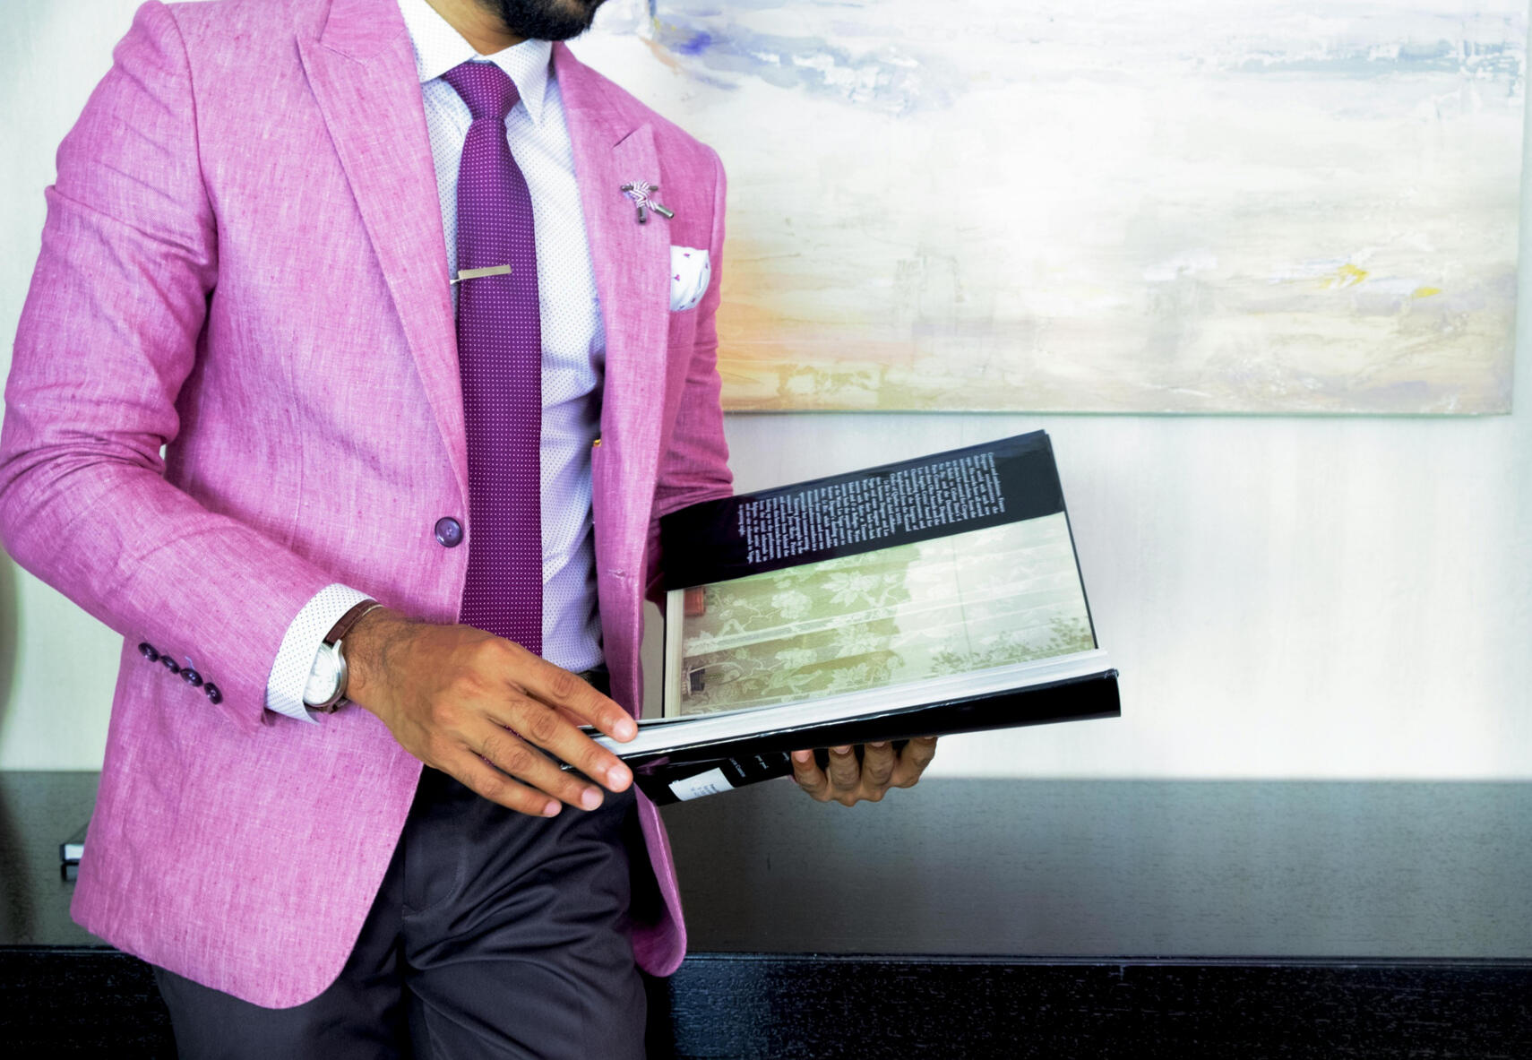
[{"label": "pink linen blazer with dark buttons worn by the man", "polygon": [[[593,450],[613,697],[640,709],[656,519],[726,495],[717,156],[553,52],[607,331]],[[639,225],[619,185],[663,188]],[[671,244],[706,247],[669,311]],[[237,997],[288,1006],[339,974],[420,763],[371,714],[264,709],[299,608],[329,582],[457,619],[467,512],[452,305],[430,147],[394,0],[146,3],[58,152],[0,430],[0,535],[124,634],[74,899],[86,928]],[[165,446],[161,458],[161,446]],[[149,642],[222,689],[139,656]],[[639,963],[685,953],[663,895]]]}]

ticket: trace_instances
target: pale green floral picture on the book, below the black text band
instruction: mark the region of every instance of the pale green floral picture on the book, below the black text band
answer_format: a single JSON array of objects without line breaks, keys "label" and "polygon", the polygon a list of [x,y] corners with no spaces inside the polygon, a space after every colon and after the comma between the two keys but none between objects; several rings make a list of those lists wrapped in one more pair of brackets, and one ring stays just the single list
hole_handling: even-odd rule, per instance
[{"label": "pale green floral picture on the book, below the black text band", "polygon": [[1063,512],[674,590],[677,613],[669,717],[1095,646]]}]

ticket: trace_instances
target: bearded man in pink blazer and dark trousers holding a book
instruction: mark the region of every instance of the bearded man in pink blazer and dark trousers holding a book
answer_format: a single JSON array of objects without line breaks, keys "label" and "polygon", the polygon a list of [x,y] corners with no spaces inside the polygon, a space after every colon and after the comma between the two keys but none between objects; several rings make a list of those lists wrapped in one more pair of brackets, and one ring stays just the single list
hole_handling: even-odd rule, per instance
[{"label": "bearded man in pink blazer and dark trousers holding a book", "polygon": [[152,0],[60,149],[0,532],[124,634],[74,913],[187,1055],[633,1055],[685,953],[578,725],[729,490],[723,173],[548,43],[599,3]]}]

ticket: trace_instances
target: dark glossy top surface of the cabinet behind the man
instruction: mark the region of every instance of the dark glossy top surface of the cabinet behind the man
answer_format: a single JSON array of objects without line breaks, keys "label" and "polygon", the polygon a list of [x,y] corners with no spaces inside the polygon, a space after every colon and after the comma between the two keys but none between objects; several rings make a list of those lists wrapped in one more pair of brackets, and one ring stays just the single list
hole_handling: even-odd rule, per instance
[{"label": "dark glossy top surface of the cabinet behind the man", "polygon": [[[95,784],[0,772],[0,945],[101,945],[58,872]],[[1532,784],[771,781],[665,816],[694,951],[1532,957]]]}]

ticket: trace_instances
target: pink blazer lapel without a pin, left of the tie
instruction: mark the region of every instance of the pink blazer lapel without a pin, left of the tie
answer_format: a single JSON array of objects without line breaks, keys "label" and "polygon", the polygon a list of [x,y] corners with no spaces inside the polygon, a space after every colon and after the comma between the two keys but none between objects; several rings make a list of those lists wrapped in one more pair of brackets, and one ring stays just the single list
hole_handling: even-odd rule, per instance
[{"label": "pink blazer lapel without a pin, left of the tie", "polygon": [[334,0],[299,55],[467,496],[467,443],[437,175],[415,52],[395,3]]}]

